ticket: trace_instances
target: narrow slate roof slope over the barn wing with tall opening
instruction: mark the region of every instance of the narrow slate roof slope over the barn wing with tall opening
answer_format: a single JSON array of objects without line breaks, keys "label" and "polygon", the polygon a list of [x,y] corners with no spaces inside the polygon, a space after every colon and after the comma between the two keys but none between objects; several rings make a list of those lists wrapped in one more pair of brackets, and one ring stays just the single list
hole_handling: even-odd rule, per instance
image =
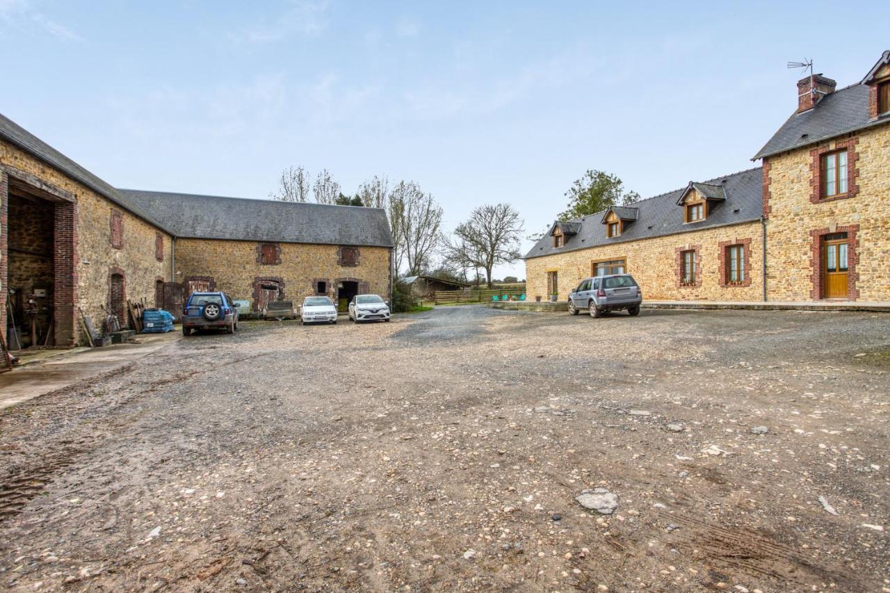
[{"label": "narrow slate roof slope over the barn wing with tall opening", "polygon": [[170,230],[162,223],[154,221],[150,215],[142,211],[140,207],[131,204],[125,196],[122,196],[120,192],[109,185],[109,183],[102,181],[99,177],[93,175],[84,167],[81,167],[76,162],[63,155],[59,150],[55,150],[52,146],[40,140],[36,135],[31,134],[28,130],[19,126],[12,121],[12,119],[5,117],[3,114],[0,114],[0,138],[44,161],[44,163],[50,167],[58,169],[65,175],[68,175],[71,179],[83,183],[86,187],[117,204],[117,206],[123,207],[134,215],[155,224],[160,227],[162,231],[170,232]]}]

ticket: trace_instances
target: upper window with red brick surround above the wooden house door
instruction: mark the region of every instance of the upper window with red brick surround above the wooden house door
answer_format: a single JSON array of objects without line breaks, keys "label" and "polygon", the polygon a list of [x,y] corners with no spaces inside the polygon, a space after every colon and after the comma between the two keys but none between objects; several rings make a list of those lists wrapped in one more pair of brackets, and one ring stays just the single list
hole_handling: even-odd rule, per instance
[{"label": "upper window with red brick surround above the wooden house door", "polygon": [[810,201],[813,204],[853,198],[859,193],[856,161],[859,138],[850,138],[810,150]]}]

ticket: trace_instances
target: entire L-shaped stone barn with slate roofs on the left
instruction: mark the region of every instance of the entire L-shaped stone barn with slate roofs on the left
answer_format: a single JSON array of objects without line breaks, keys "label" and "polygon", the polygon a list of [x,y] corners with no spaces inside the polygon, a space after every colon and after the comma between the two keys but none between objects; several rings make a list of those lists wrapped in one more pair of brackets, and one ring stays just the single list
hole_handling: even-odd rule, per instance
[{"label": "entire L-shaped stone barn with slate roofs on the left", "polygon": [[0,115],[0,288],[4,332],[69,346],[82,313],[126,327],[127,300],[175,309],[197,289],[255,310],[388,296],[392,234],[380,208],[118,190]]}]

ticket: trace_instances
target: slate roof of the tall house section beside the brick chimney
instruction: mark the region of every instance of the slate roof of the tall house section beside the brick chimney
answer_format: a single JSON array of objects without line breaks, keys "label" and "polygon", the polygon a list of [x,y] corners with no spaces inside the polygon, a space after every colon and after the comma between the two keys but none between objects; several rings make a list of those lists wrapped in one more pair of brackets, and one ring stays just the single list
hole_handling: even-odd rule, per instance
[{"label": "slate roof of the tall house section beside the brick chimney", "polygon": [[751,160],[770,157],[786,150],[887,122],[890,122],[890,114],[877,119],[869,118],[868,85],[860,83],[847,86],[822,97],[812,110],[795,113],[788,118],[788,121]]}]

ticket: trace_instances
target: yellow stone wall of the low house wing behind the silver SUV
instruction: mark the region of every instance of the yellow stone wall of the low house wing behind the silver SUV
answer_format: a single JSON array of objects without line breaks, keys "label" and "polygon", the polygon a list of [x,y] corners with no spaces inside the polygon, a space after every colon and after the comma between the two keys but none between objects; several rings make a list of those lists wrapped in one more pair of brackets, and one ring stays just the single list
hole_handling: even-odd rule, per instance
[{"label": "yellow stone wall of the low house wing behind the silver SUV", "polygon": [[[684,215],[680,207],[677,207],[676,215]],[[725,247],[746,240],[750,245],[745,254],[750,282],[742,286],[725,286],[721,283]],[[763,296],[761,241],[761,225],[754,222],[534,257],[525,260],[526,292],[529,299],[541,296],[542,300],[547,300],[546,272],[556,270],[559,300],[564,301],[572,288],[592,275],[594,262],[625,259],[626,272],[634,275],[643,288],[643,298],[647,300],[759,301]],[[681,286],[679,281],[677,253],[686,249],[696,250],[698,278],[693,286]]]}]

